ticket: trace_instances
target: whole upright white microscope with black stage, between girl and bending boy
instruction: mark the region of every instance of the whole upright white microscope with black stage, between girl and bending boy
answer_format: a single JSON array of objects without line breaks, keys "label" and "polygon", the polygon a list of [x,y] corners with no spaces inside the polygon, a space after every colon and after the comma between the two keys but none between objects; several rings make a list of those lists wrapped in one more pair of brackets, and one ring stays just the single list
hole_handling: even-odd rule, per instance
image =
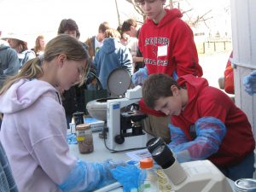
[{"label": "whole upright white microscope with black stage, between girl and bending boy", "polygon": [[107,101],[106,147],[112,152],[145,148],[151,138],[142,127],[146,114],[140,112],[138,102],[142,87],[125,92],[125,97]]}]

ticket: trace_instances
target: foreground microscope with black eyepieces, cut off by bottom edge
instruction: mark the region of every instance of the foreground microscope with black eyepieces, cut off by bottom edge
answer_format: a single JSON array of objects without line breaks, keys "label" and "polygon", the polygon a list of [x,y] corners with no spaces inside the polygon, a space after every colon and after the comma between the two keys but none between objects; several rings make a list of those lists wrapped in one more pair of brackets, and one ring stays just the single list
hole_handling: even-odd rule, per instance
[{"label": "foreground microscope with black eyepieces, cut off by bottom edge", "polygon": [[232,192],[227,177],[209,160],[179,164],[172,151],[160,137],[147,143],[154,161],[161,166],[175,192]]}]

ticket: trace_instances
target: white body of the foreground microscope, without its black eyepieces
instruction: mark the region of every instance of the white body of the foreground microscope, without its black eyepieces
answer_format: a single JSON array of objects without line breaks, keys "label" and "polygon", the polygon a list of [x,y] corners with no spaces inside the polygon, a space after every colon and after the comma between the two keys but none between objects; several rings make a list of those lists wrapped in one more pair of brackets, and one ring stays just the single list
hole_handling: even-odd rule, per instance
[{"label": "white body of the foreground microscope, without its black eyepieces", "polygon": [[209,160],[182,164],[177,161],[164,169],[175,192],[232,192],[227,177]]}]

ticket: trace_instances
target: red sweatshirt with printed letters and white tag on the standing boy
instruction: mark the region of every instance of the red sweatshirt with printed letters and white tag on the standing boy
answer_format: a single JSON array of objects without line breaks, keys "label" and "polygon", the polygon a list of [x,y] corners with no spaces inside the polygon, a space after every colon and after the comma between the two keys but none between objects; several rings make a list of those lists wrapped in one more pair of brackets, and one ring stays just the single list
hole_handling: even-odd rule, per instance
[{"label": "red sweatshirt with printed letters and white tag on the standing boy", "polygon": [[180,18],[178,9],[165,9],[166,15],[155,25],[146,20],[139,33],[139,49],[143,53],[148,74],[166,73],[172,76],[193,74],[202,76],[193,32]]}]

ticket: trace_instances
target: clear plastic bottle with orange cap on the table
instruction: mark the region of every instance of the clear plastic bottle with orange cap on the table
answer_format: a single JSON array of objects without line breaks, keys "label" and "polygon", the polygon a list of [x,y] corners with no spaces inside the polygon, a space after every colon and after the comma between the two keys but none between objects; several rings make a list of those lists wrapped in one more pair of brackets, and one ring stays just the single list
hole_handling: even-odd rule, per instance
[{"label": "clear plastic bottle with orange cap on the table", "polygon": [[158,192],[159,182],[152,158],[140,160],[139,192]]}]

